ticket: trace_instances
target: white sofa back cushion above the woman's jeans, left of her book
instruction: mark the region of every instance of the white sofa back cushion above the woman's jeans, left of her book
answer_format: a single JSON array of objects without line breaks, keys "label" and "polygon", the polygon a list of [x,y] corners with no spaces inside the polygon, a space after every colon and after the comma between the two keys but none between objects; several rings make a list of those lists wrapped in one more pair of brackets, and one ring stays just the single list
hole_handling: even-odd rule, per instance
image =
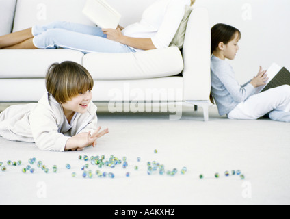
[{"label": "white sofa back cushion above the woman's jeans, left of her book", "polygon": [[83,13],[86,0],[18,0],[13,31],[52,21],[94,25]]}]

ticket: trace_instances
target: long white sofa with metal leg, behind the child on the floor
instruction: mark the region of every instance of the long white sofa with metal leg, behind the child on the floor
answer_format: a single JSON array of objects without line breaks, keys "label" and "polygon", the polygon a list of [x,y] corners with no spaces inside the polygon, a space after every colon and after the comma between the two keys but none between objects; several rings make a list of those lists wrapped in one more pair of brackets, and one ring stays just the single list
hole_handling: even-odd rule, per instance
[{"label": "long white sofa with metal leg, behind the child on the floor", "polygon": [[[107,1],[122,14],[120,25],[126,26],[139,21],[144,8],[156,0]],[[0,0],[0,35],[55,20],[94,25],[81,12],[84,4],[85,0]],[[93,101],[189,103],[202,106],[208,120],[210,28],[205,8],[193,9],[182,52],[176,47],[126,54],[0,49],[0,102],[38,101],[45,92],[48,66],[64,60],[90,71]]]}]

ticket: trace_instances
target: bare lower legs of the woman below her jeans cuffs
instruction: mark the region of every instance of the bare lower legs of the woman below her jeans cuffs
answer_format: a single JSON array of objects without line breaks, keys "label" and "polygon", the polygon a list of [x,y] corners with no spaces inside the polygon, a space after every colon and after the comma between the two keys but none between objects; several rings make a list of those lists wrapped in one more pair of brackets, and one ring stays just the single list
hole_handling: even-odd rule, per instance
[{"label": "bare lower legs of the woman below her jeans cuffs", "polygon": [[31,33],[31,28],[0,36],[0,49],[6,49],[5,47],[12,47],[33,37],[34,36]]}]

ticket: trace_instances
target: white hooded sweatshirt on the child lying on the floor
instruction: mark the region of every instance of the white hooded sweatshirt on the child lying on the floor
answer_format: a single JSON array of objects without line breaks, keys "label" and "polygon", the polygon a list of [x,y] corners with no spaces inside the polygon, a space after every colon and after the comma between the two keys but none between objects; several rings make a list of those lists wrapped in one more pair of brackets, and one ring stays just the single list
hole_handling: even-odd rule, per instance
[{"label": "white hooded sweatshirt on the child lying on the floor", "polygon": [[35,142],[44,151],[64,151],[68,138],[97,128],[97,107],[75,113],[70,124],[62,105],[45,93],[38,103],[12,105],[0,114],[0,136],[8,140]]}]

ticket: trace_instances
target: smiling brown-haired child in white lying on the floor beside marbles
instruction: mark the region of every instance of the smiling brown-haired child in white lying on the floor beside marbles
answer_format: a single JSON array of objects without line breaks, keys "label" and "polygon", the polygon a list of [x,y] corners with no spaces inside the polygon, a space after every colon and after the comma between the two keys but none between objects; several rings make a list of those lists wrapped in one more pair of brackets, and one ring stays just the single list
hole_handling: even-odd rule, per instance
[{"label": "smiling brown-haired child in white lying on the floor beside marbles", "polygon": [[47,92],[38,103],[12,105],[0,114],[0,136],[8,140],[35,142],[44,151],[80,151],[95,146],[108,133],[97,127],[92,103],[94,80],[75,62],[51,65]]}]

